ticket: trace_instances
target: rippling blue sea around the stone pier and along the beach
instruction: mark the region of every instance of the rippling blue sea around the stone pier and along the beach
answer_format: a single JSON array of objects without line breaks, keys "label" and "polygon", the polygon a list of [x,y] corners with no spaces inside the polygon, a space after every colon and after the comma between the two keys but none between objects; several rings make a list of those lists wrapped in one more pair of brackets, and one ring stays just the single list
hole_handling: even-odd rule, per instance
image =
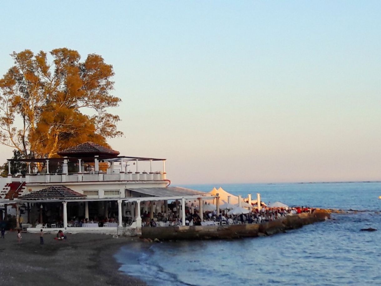
[{"label": "rippling blue sea around the stone pier and along the beach", "polygon": [[[128,244],[115,254],[120,270],[150,286],[381,285],[381,182],[184,187],[220,186],[266,203],[350,211],[273,236]],[[378,231],[360,231],[370,227]]]}]

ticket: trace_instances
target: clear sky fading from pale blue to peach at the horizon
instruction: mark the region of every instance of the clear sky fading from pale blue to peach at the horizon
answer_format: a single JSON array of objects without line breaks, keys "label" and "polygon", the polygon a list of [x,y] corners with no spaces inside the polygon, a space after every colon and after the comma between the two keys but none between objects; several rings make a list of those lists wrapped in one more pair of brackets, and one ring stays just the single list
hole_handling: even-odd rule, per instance
[{"label": "clear sky fading from pale blue to peach at the horizon", "polygon": [[[174,184],[381,179],[381,1],[6,1],[9,54],[115,70],[128,156]],[[12,156],[0,146],[0,161]],[[147,168],[148,170],[148,168]]]}]

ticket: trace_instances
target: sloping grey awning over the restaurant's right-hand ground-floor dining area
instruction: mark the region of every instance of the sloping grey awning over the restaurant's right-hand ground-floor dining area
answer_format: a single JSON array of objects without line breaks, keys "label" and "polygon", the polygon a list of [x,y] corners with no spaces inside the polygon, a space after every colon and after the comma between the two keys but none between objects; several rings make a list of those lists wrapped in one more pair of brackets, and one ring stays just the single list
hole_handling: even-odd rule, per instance
[{"label": "sloping grey awning over the restaurant's right-hand ground-floor dining area", "polygon": [[207,196],[210,194],[181,187],[166,187],[166,188],[129,188],[132,196],[152,196],[152,197],[171,197],[171,196]]}]

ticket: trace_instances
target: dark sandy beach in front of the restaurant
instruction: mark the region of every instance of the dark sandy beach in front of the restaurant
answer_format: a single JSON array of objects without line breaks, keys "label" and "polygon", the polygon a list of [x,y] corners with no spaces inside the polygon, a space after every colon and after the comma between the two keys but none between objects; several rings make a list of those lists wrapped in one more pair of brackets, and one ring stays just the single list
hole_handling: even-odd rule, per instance
[{"label": "dark sandy beach in front of the restaurant", "polygon": [[[68,234],[66,241],[55,233],[44,235],[7,231],[0,238],[0,283],[2,285],[131,285],[146,286],[118,271],[113,255],[130,238],[110,235]],[[136,239],[135,239],[136,240]]]}]

